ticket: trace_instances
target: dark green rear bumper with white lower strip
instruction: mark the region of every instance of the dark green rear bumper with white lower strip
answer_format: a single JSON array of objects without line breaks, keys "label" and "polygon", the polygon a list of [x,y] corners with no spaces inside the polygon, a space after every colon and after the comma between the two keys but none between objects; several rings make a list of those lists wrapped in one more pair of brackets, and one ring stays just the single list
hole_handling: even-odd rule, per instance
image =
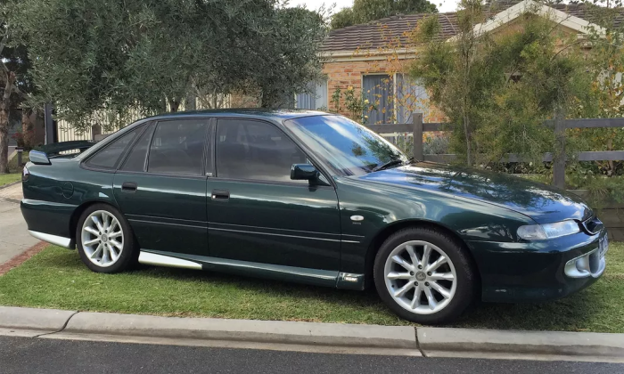
[{"label": "dark green rear bumper with white lower strip", "polygon": [[74,248],[70,232],[71,215],[76,206],[51,201],[22,199],[21,215],[29,227],[30,235],[57,246]]}]

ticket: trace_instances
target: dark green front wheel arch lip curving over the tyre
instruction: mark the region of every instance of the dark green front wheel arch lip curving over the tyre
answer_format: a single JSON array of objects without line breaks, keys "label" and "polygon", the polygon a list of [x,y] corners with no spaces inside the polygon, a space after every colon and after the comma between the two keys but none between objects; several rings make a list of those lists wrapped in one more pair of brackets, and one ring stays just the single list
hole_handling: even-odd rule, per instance
[{"label": "dark green front wheel arch lip curving over the tyre", "polygon": [[416,227],[432,228],[439,232],[444,232],[445,234],[448,234],[450,237],[456,240],[457,244],[459,244],[462,248],[464,248],[464,251],[471,259],[472,266],[474,267],[476,271],[476,276],[477,276],[478,284],[480,287],[481,274],[480,274],[479,264],[477,264],[474,256],[472,256],[472,250],[470,249],[470,247],[468,247],[465,240],[463,240],[462,237],[457,232],[451,230],[450,228],[448,228],[447,226],[443,224],[439,224],[437,222],[432,222],[432,221],[427,221],[427,220],[418,220],[418,219],[398,221],[398,222],[389,224],[388,226],[384,227],[380,232],[377,232],[375,234],[373,240],[371,240],[371,243],[368,246],[368,249],[366,250],[366,256],[365,256],[365,278],[366,278],[365,283],[366,284],[370,285],[374,283],[373,282],[374,259],[375,259],[375,256],[377,256],[377,252],[379,251],[379,248],[382,246],[383,242],[387,240],[390,237],[390,235],[392,235],[395,232],[398,232],[406,228],[416,228]]}]

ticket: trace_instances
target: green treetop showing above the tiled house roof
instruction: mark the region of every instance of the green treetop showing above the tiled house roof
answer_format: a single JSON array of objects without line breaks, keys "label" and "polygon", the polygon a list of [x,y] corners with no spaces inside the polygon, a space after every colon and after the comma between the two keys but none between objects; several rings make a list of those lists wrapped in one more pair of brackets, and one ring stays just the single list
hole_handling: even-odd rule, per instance
[{"label": "green treetop showing above the tiled house roof", "polygon": [[397,14],[437,12],[436,6],[427,0],[355,0],[353,7],[336,12],[332,18],[332,28],[380,20]]}]

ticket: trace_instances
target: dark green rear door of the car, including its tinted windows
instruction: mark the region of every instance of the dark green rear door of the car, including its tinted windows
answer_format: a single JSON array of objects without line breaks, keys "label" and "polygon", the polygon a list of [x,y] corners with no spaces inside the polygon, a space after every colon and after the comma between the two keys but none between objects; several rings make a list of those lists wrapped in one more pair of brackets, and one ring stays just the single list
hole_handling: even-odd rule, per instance
[{"label": "dark green rear door of the car, including its tinted windows", "polygon": [[119,167],[113,193],[142,249],[208,256],[208,134],[207,118],[160,120]]}]

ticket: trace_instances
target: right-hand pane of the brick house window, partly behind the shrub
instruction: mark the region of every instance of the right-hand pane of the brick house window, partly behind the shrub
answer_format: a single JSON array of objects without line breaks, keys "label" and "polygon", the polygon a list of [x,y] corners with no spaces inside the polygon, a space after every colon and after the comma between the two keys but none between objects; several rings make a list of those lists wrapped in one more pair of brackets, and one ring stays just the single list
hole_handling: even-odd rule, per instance
[{"label": "right-hand pane of the brick house window, partly behind the shrub", "polygon": [[414,81],[406,74],[397,73],[397,123],[405,124],[412,121],[412,113],[423,113],[426,117],[429,112],[429,95],[423,85]]}]

